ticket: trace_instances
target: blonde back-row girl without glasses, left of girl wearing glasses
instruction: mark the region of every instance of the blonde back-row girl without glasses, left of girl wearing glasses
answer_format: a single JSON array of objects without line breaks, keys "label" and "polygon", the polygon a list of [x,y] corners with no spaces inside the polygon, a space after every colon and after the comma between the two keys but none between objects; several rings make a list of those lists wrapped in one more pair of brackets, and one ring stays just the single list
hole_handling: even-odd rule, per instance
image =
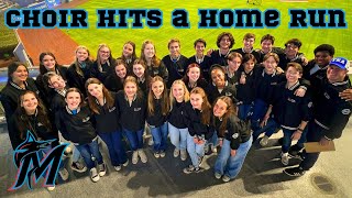
[{"label": "blonde back-row girl without glasses, left of girl wearing glasses", "polygon": [[69,87],[78,88],[86,97],[85,82],[90,78],[92,61],[89,57],[89,50],[82,45],[76,48],[75,55],[75,62],[67,69],[67,84]]}]

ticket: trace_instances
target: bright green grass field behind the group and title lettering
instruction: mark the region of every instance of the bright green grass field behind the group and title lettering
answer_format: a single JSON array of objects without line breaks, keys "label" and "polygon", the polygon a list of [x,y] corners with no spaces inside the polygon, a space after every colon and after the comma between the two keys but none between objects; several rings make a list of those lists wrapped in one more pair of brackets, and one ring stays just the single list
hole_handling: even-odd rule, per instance
[{"label": "bright green grass field behind the group and title lettering", "polygon": [[[80,9],[86,9],[89,13],[89,29],[88,30],[69,30],[67,33],[79,44],[86,45],[90,48],[92,56],[97,54],[97,47],[100,43],[107,43],[112,48],[114,57],[121,55],[122,45],[125,41],[133,41],[136,43],[136,54],[141,54],[141,44],[144,40],[150,38],[155,42],[157,55],[163,57],[168,54],[167,42],[172,37],[178,37],[182,41],[182,53],[186,56],[191,56],[195,51],[193,43],[195,40],[202,37],[207,41],[207,48],[216,48],[217,35],[223,31],[231,32],[237,44],[233,48],[242,46],[243,35],[248,32],[255,33],[257,36],[255,47],[260,47],[260,40],[264,34],[271,33],[276,37],[275,45],[283,46],[286,41],[293,37],[298,37],[304,43],[301,52],[309,58],[314,57],[314,48],[322,43],[332,44],[337,48],[337,56],[345,56],[352,58],[352,30],[348,29],[331,29],[331,30],[289,30],[288,9],[343,9],[345,11],[345,19],[351,22],[352,0],[336,1],[336,0],[315,0],[307,3],[285,3],[279,0],[267,0],[262,6],[249,6],[246,0],[237,1],[138,1],[138,0],[89,0],[79,6]],[[97,14],[96,9],[160,9],[163,11],[163,25],[160,29],[96,29]],[[190,29],[175,29],[172,26],[172,11],[174,9],[186,9],[189,13]],[[280,11],[280,25],[277,29],[198,29],[198,9],[277,9]],[[118,21],[118,18],[116,19]],[[349,24],[350,26],[351,24]]]}]

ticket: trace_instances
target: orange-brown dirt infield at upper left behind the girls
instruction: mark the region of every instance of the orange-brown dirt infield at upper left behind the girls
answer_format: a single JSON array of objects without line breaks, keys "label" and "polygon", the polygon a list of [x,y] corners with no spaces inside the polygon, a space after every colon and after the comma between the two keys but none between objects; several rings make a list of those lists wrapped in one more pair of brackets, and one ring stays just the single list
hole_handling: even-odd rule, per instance
[{"label": "orange-brown dirt infield at upper left behind the girls", "polygon": [[[74,0],[57,8],[75,8],[86,1]],[[58,29],[19,29],[18,34],[34,65],[40,64],[38,57],[42,52],[52,52],[59,64],[69,65],[74,62],[74,52],[78,43],[73,41],[64,31]]]}]

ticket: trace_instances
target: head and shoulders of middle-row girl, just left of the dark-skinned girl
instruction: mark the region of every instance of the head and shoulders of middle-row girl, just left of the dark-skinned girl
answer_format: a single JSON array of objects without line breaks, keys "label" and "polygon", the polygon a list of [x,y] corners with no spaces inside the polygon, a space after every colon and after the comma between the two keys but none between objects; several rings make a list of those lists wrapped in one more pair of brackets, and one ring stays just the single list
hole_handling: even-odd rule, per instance
[{"label": "head and shoulders of middle-row girl, just left of the dark-skinned girl", "polygon": [[200,66],[195,63],[188,65],[183,81],[187,86],[188,91],[191,91],[195,87],[200,87],[205,90],[208,88],[208,82],[201,76]]}]

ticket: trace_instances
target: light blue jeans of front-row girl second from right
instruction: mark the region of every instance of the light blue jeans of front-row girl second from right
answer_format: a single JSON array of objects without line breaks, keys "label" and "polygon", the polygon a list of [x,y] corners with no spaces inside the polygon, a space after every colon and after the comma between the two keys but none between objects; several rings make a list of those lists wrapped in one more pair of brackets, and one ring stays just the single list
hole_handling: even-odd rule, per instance
[{"label": "light blue jeans of front-row girl second from right", "polygon": [[194,136],[190,136],[189,133],[187,134],[187,151],[191,160],[191,164],[196,168],[199,167],[199,157],[205,155],[205,145],[206,143],[196,144],[194,142]]}]

